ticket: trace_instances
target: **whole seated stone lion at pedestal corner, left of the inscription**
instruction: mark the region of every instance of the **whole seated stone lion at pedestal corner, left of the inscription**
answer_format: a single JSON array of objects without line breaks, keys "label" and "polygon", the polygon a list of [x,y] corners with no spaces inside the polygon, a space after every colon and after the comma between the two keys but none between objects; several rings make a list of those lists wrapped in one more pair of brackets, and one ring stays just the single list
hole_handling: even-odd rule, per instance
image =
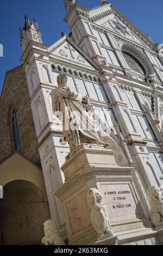
[{"label": "whole seated stone lion at pedestal corner, left of the inscription", "polygon": [[91,222],[98,235],[112,234],[106,206],[101,193],[96,188],[91,188],[87,193],[87,204],[91,209]]}]

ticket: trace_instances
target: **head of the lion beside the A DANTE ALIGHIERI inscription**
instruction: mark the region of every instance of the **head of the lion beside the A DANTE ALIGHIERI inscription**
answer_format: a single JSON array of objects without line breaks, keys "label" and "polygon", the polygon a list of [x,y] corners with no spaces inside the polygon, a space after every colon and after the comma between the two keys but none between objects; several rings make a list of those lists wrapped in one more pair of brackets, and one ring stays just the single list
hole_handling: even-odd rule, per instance
[{"label": "head of the lion beside the A DANTE ALIGHIERI inscription", "polygon": [[101,193],[96,188],[91,188],[87,193],[87,203],[90,208],[95,204],[101,204],[103,197]]}]

